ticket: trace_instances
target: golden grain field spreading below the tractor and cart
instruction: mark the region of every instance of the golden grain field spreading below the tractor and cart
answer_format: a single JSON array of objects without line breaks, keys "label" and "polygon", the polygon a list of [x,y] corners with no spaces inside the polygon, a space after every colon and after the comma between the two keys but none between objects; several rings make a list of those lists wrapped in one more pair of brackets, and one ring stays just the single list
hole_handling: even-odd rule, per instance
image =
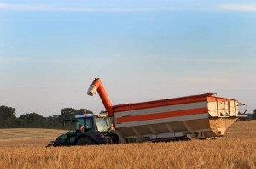
[{"label": "golden grain field spreading below the tractor and cart", "polygon": [[1,137],[0,168],[256,168],[256,121],[204,141],[44,148],[47,139]]}]

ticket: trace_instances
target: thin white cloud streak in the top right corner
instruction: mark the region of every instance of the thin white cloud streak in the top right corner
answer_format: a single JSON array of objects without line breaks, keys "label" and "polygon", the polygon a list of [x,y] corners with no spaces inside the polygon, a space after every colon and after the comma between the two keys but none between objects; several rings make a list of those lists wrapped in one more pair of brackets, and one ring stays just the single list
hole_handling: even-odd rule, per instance
[{"label": "thin white cloud streak in the top right corner", "polygon": [[256,5],[253,4],[221,4],[219,7],[224,10],[256,12]]}]

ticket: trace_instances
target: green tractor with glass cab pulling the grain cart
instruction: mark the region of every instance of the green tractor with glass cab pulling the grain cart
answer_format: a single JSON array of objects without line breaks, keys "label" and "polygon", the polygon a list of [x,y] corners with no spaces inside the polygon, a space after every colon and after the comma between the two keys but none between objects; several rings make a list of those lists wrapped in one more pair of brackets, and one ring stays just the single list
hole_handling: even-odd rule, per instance
[{"label": "green tractor with glass cab pulling the grain cart", "polygon": [[75,115],[75,119],[63,121],[63,126],[67,121],[75,123],[76,130],[62,134],[46,147],[119,144],[119,137],[106,113]]}]

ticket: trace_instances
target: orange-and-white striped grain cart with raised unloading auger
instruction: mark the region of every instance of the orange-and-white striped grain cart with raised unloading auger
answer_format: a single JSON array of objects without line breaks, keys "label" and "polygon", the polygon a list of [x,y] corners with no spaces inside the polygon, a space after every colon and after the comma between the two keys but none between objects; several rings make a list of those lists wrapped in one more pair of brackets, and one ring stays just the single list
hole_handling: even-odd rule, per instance
[{"label": "orange-and-white striped grain cart with raised unloading auger", "polygon": [[96,92],[122,143],[222,137],[241,116],[239,107],[245,105],[213,93],[112,105],[98,78],[87,93],[92,96]]}]

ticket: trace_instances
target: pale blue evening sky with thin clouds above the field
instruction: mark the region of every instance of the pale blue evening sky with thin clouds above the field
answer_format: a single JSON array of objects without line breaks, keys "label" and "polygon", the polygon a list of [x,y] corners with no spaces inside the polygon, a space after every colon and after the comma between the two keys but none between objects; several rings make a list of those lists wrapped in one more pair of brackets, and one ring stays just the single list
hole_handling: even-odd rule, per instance
[{"label": "pale blue evening sky with thin clouds above the field", "polygon": [[0,104],[17,115],[218,93],[256,109],[255,1],[0,1]]}]

